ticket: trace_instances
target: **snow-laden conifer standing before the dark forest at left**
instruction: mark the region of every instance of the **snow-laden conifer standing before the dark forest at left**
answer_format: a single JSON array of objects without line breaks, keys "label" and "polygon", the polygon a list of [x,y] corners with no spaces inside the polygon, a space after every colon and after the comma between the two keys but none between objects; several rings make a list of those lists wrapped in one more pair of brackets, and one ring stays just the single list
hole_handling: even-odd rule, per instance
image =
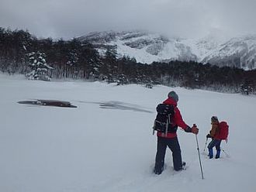
[{"label": "snow-laden conifer standing before the dark forest at left", "polygon": [[50,81],[48,76],[49,70],[53,70],[53,67],[50,67],[46,60],[45,54],[40,52],[32,52],[28,54],[29,56],[29,67],[32,71],[26,74],[26,77],[29,80],[40,80],[40,81]]}]

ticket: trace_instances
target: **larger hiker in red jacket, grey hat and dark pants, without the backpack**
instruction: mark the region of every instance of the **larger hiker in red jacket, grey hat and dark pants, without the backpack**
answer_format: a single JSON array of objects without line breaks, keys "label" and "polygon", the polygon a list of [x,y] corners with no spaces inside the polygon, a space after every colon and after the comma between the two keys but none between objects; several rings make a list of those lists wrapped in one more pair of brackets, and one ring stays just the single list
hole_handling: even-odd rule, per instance
[{"label": "larger hiker in red jacket, grey hat and dark pants, without the backpack", "polygon": [[194,134],[198,134],[199,132],[196,125],[193,125],[191,128],[183,121],[181,112],[177,107],[178,94],[176,94],[175,91],[169,92],[168,98],[163,103],[174,106],[175,115],[171,119],[174,131],[168,132],[167,134],[164,132],[157,132],[157,154],[155,158],[154,173],[158,175],[164,170],[164,156],[167,146],[172,152],[174,170],[178,171],[184,169],[185,162],[182,162],[181,148],[176,133],[177,128],[181,127],[185,132],[192,132]]}]

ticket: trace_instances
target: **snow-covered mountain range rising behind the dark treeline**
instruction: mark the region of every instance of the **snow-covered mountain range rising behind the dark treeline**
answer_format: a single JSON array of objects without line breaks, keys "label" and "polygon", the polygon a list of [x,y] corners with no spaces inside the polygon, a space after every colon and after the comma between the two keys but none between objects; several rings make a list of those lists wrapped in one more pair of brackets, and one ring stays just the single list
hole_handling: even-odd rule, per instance
[{"label": "snow-covered mountain range rising behind the dark treeline", "polygon": [[212,34],[201,39],[182,39],[145,31],[109,31],[88,33],[78,39],[94,44],[99,53],[116,46],[119,57],[134,57],[140,63],[194,60],[246,70],[256,68],[256,35],[223,39]]}]

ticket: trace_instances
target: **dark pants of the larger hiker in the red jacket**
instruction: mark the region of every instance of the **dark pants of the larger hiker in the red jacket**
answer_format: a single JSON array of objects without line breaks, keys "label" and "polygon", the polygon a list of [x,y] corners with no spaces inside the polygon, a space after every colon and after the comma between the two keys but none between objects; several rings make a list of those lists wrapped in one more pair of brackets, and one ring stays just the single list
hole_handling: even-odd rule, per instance
[{"label": "dark pants of the larger hiker in the red jacket", "polygon": [[182,152],[178,143],[178,138],[163,138],[157,137],[157,155],[154,166],[154,171],[156,173],[161,173],[164,168],[164,156],[166,148],[171,149],[173,167],[175,170],[182,170]]}]

